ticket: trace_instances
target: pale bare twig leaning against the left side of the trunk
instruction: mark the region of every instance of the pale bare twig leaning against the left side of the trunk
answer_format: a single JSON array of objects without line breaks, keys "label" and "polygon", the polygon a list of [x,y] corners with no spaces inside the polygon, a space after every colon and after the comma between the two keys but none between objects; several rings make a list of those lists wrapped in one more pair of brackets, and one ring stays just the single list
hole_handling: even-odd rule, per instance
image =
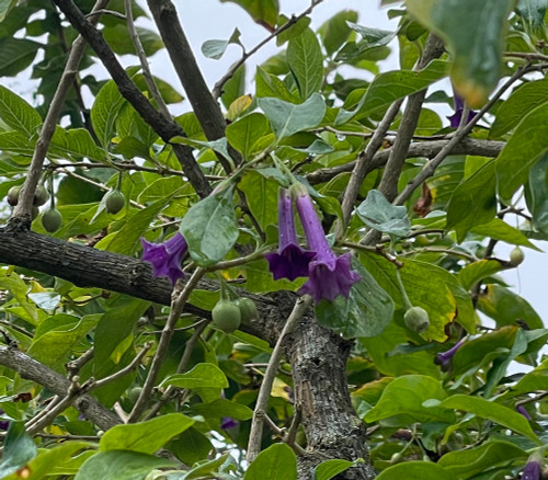
[{"label": "pale bare twig leaning against the left side of the trunk", "polygon": [[272,391],[272,385],[276,377],[277,367],[282,359],[282,345],[285,341],[285,336],[293,331],[307,308],[310,306],[311,301],[312,298],[308,295],[305,295],[304,297],[297,299],[293,311],[289,315],[284,329],[282,330],[282,333],[279,334],[276,345],[272,351],[271,359],[269,362],[269,366],[266,367],[266,372],[264,373],[261,389],[259,390],[255,410],[253,411],[253,420],[251,422],[251,432],[248,443],[248,461],[253,461],[261,452],[261,439],[263,436],[263,415],[266,412],[269,398]]}]

